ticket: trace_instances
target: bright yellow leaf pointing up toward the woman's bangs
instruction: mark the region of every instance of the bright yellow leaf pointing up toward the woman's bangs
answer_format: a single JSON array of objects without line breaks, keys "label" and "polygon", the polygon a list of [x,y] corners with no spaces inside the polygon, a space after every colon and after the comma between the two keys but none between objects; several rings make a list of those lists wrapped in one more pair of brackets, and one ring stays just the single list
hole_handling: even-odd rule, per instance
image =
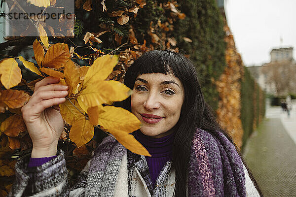
[{"label": "bright yellow leaf pointing up toward the woman's bangs", "polygon": [[105,80],[112,72],[117,62],[118,58],[114,55],[104,55],[100,58],[97,58],[92,66],[90,66],[88,69],[84,77],[83,85],[97,82],[98,80]]}]

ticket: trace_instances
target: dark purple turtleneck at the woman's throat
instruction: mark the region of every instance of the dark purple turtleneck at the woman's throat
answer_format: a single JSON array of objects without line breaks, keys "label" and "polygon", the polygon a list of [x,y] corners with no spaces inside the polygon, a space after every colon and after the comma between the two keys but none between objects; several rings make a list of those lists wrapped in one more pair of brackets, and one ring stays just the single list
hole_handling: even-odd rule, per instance
[{"label": "dark purple turtleneck at the woman's throat", "polygon": [[175,133],[160,138],[144,135],[139,130],[133,134],[151,155],[151,157],[145,158],[150,171],[151,181],[154,185],[164,165],[172,160]]}]

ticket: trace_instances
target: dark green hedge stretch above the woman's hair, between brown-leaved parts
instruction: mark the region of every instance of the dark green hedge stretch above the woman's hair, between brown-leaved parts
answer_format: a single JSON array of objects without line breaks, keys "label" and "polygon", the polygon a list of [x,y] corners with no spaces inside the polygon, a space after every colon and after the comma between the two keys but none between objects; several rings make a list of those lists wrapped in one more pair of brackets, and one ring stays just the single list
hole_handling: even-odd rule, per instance
[{"label": "dark green hedge stretch above the woman's hair, between brown-leaved parts", "polygon": [[[219,96],[212,78],[218,80],[226,65],[221,12],[216,0],[178,0],[178,3],[186,18],[174,24],[177,46],[196,65],[206,101],[216,110]],[[192,42],[186,42],[184,37]]]}]

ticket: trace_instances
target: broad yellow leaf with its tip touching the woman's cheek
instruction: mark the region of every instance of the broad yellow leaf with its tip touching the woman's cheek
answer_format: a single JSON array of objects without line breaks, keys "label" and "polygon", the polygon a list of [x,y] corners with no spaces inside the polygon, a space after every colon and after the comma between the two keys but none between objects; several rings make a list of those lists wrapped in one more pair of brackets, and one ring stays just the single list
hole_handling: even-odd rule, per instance
[{"label": "broad yellow leaf with its tip touching the woman's cheek", "polygon": [[127,99],[131,94],[132,91],[119,81],[100,81],[86,86],[78,94],[78,102],[80,106],[82,102],[84,106],[81,106],[81,108],[87,111],[88,107],[121,101]]}]

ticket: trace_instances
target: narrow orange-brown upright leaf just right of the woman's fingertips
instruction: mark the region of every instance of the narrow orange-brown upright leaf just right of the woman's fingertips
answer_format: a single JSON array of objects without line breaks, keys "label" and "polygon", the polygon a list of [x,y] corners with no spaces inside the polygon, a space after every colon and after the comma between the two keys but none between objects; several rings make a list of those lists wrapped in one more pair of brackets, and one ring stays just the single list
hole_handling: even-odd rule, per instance
[{"label": "narrow orange-brown upright leaf just right of the woman's fingertips", "polygon": [[79,68],[74,65],[74,62],[72,62],[72,60],[69,60],[64,65],[64,67],[64,76],[66,83],[69,86],[68,95],[70,96],[80,82]]}]

